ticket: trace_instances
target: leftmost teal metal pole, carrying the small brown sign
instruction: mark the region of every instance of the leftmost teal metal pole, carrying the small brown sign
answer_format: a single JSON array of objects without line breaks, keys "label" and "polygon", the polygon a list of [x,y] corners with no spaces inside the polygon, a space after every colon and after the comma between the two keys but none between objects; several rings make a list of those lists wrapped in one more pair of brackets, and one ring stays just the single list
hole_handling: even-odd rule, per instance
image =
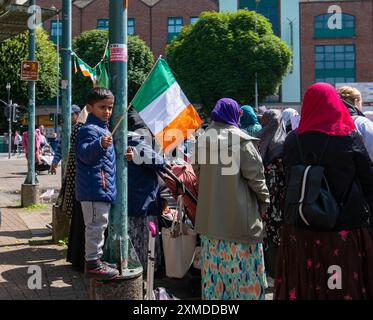
[{"label": "leftmost teal metal pole, carrying the small brown sign", "polygon": [[[35,0],[30,0],[29,5],[35,6]],[[35,7],[33,7],[35,8]],[[31,15],[36,17],[36,10],[34,9]],[[32,24],[32,28],[29,29],[29,60],[35,61],[35,27],[36,19]],[[29,98],[29,110],[28,110],[28,159],[27,159],[27,176],[25,184],[35,185],[35,81],[28,82],[28,98]]]}]

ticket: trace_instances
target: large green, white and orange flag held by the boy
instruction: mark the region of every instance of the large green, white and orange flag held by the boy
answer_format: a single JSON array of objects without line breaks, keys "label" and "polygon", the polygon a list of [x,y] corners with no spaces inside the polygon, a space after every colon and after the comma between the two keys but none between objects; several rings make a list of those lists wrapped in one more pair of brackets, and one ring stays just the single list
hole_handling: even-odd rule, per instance
[{"label": "large green, white and orange flag held by the boy", "polygon": [[163,59],[158,59],[131,104],[165,151],[182,143],[202,123]]}]

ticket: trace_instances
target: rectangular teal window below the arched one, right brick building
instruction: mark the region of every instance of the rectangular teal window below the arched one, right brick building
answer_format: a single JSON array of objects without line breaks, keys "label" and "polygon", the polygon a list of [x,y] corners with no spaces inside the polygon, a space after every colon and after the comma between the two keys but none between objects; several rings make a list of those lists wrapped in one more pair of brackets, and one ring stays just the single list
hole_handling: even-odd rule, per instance
[{"label": "rectangular teal window below the arched one, right brick building", "polygon": [[355,45],[315,46],[315,80],[332,85],[355,82]]}]

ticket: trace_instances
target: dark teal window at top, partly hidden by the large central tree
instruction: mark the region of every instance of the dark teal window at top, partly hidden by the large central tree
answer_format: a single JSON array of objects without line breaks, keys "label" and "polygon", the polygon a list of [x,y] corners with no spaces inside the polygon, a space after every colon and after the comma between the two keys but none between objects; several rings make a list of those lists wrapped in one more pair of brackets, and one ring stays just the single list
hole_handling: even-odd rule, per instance
[{"label": "dark teal window at top, partly hidden by the large central tree", "polygon": [[[255,0],[240,0],[240,9],[249,9],[265,16],[272,24],[273,33],[280,35],[280,6],[278,0],[261,0],[258,4]],[[258,7],[257,7],[258,6]]]}]

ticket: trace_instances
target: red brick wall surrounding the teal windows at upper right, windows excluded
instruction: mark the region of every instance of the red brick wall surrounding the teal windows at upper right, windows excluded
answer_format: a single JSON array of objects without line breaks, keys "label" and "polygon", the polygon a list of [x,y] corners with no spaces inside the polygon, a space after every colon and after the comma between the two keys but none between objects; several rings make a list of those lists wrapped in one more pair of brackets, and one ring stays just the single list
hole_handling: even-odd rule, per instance
[{"label": "red brick wall surrounding the teal windows at upper right, windows excluded", "polygon": [[[339,5],[343,13],[355,16],[353,38],[315,39],[314,17],[328,12],[331,5]],[[314,46],[355,44],[356,82],[373,82],[373,1],[317,1],[300,4],[301,88],[315,82]]]}]

